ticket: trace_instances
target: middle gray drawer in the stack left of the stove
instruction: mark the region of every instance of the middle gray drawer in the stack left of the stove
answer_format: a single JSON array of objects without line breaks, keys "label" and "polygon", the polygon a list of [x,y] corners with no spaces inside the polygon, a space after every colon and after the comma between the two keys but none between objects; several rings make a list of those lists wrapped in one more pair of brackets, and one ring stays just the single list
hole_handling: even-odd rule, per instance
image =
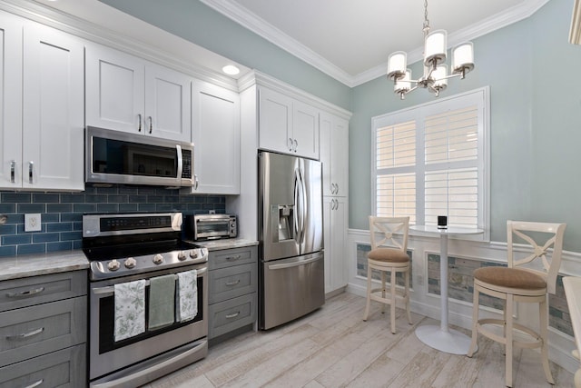
[{"label": "middle gray drawer in the stack left of the stove", "polygon": [[84,343],[86,296],[0,313],[0,365]]}]

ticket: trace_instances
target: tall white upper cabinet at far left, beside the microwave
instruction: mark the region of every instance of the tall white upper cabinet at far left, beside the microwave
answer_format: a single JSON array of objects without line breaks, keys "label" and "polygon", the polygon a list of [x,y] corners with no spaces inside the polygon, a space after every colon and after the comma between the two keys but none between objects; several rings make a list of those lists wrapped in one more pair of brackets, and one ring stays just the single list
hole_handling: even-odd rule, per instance
[{"label": "tall white upper cabinet at far left, beside the microwave", "polygon": [[0,187],[84,190],[84,42],[13,15],[0,21],[8,26]]}]

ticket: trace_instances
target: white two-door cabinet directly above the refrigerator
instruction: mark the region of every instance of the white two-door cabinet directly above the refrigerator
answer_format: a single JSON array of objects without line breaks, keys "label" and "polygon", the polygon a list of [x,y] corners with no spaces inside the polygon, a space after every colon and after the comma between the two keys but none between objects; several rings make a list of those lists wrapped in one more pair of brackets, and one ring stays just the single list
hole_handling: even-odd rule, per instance
[{"label": "white two-door cabinet directly above the refrigerator", "polygon": [[319,159],[319,110],[264,87],[259,95],[259,146]]}]

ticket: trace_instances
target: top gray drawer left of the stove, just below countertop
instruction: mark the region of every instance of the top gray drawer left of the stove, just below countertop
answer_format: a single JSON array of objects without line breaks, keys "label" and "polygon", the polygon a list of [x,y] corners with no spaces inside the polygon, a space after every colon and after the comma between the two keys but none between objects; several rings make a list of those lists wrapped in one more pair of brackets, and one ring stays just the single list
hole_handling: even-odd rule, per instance
[{"label": "top gray drawer left of the stove, just below countertop", "polygon": [[0,312],[87,293],[86,271],[23,277],[0,282]]}]

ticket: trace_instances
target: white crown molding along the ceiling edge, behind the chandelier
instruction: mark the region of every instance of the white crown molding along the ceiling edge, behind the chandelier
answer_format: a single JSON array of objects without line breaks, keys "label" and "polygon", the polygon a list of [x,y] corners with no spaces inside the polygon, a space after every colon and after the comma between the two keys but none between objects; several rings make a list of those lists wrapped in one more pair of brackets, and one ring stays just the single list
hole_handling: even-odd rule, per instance
[{"label": "white crown molding along the ceiling edge, behind the chandelier", "polygon": [[[203,4],[210,6],[215,11],[230,18],[234,22],[242,25],[256,35],[260,35],[274,45],[287,51],[306,62],[309,65],[319,69],[322,73],[330,75],[344,85],[354,87],[369,82],[379,76],[385,75],[388,65],[387,62],[377,65],[359,75],[350,75],[341,70],[338,66],[331,64],[322,56],[316,54],[310,48],[300,44],[291,36],[284,34],[281,30],[267,23],[261,17],[252,14],[246,8],[242,7],[233,0],[200,0]],[[578,2],[579,0],[577,0]],[[488,17],[467,28],[459,30],[454,34],[448,35],[448,45],[453,47],[461,42],[475,39],[482,35],[487,35],[497,29],[512,25],[526,19],[537,12],[539,8],[547,4],[548,0],[527,0],[520,5],[515,5],[507,11]],[[418,47],[408,53],[409,63],[414,63],[422,58],[423,47]]]}]

